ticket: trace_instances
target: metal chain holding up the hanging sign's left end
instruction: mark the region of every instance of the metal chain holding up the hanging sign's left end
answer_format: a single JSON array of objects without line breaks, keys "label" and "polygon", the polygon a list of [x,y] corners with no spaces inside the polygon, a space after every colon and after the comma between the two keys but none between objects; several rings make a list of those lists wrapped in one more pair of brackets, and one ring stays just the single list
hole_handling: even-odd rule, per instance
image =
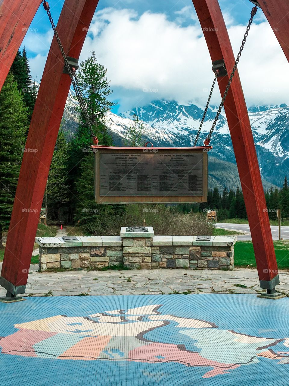
[{"label": "metal chain holding up the hanging sign's left end", "polygon": [[50,21],[50,24],[52,26],[52,29],[54,30],[54,35],[55,35],[55,38],[56,38],[57,43],[59,45],[59,49],[60,49],[60,52],[62,54],[62,57],[64,59],[64,64],[65,64],[66,69],[67,69],[67,71],[69,73],[69,76],[70,76],[70,79],[71,79],[71,83],[72,83],[72,86],[73,86],[75,94],[76,94],[76,98],[78,100],[78,103],[79,103],[79,106],[81,108],[81,111],[82,111],[82,113],[84,115],[84,119],[86,120],[87,126],[88,126],[88,128],[89,128],[89,130],[91,132],[92,140],[93,140],[93,142],[95,144],[98,144],[98,139],[97,139],[96,135],[94,134],[94,131],[92,129],[92,125],[91,125],[88,113],[86,111],[85,102],[84,102],[84,99],[82,97],[82,93],[81,93],[81,89],[79,87],[79,83],[77,81],[76,72],[75,71],[72,72],[71,68],[69,67],[69,63],[67,61],[66,54],[65,54],[64,49],[62,47],[62,44],[61,44],[61,41],[60,41],[60,37],[58,35],[58,32],[56,30],[54,21],[52,19],[51,13],[50,13],[50,7],[49,7],[48,2],[43,0],[43,6],[44,6],[45,11],[47,12],[48,17],[49,17],[49,21]]}]

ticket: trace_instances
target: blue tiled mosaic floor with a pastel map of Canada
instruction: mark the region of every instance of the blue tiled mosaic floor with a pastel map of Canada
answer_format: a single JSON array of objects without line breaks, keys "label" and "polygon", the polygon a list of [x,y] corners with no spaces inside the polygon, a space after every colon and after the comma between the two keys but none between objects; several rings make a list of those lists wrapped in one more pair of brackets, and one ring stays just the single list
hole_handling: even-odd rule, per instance
[{"label": "blue tiled mosaic floor with a pastel map of Canada", "polygon": [[288,298],[26,300],[0,303],[1,386],[288,386]]}]

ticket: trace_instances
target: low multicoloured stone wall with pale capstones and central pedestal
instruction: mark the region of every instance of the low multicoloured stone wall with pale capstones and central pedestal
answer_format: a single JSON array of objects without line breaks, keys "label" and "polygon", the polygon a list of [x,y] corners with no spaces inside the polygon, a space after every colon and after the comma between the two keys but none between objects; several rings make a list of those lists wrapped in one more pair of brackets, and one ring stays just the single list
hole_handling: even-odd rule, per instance
[{"label": "low multicoloured stone wall with pale capstones and central pedestal", "polygon": [[41,271],[55,268],[85,269],[123,264],[131,269],[234,269],[235,236],[120,236],[37,237]]}]

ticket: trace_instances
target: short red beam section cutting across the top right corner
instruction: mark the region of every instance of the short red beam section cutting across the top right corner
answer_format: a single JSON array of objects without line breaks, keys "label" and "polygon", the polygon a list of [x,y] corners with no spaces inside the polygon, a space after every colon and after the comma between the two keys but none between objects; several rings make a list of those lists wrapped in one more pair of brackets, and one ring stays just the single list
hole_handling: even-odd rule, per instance
[{"label": "short red beam section cutting across the top right corner", "polygon": [[289,61],[289,1],[258,0],[258,3]]}]

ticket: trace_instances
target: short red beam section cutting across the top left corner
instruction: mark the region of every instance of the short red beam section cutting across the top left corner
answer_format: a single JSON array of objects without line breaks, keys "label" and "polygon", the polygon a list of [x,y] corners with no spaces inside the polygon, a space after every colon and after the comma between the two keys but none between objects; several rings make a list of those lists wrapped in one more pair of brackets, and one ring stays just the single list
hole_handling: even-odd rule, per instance
[{"label": "short red beam section cutting across the top left corner", "polygon": [[0,1],[0,91],[41,1]]}]

